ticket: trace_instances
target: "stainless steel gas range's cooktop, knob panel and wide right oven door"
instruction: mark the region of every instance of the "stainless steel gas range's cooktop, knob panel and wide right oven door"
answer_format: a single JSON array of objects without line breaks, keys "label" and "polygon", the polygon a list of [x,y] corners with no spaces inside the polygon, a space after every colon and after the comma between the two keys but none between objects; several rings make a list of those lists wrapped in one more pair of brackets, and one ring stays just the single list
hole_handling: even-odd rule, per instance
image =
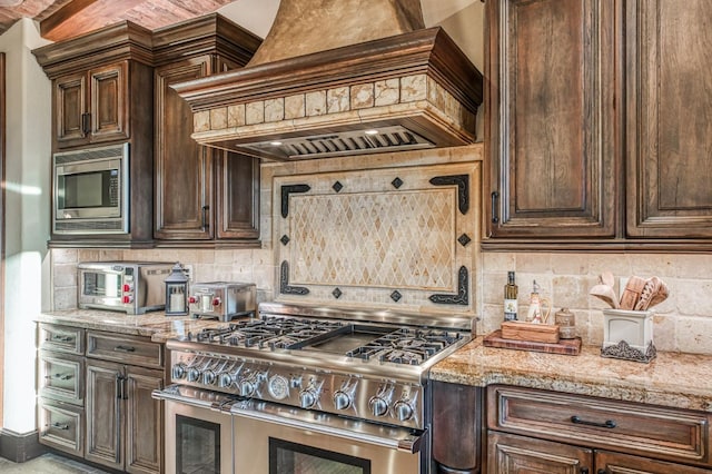
[{"label": "stainless steel gas range's cooktop, knob panel and wide right oven door", "polygon": [[211,408],[233,419],[236,473],[431,472],[428,369],[471,339],[473,318],[277,303],[258,314],[168,340],[172,385],[154,396],[227,395]]}]

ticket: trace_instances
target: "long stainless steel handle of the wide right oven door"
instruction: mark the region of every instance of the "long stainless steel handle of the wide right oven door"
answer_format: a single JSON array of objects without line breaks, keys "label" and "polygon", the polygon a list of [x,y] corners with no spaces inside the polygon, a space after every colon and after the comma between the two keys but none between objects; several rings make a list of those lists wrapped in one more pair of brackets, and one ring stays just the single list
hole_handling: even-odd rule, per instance
[{"label": "long stainless steel handle of the wide right oven door", "polygon": [[[299,411],[290,411],[289,415],[279,414],[280,408],[274,404],[260,404],[256,408],[249,401],[236,402],[231,405],[231,413],[235,416],[244,416],[247,418],[259,419],[264,422],[276,423],[281,426],[290,426],[297,429],[308,429],[315,433],[338,436],[346,440],[358,440],[364,443],[374,444],[379,447],[397,450],[405,453],[418,453],[423,447],[423,443],[427,440],[427,429],[423,432],[413,432],[407,428],[383,427],[380,425],[367,424],[373,429],[356,431],[348,427],[337,426],[339,419],[334,417],[337,423],[329,423],[329,419],[319,419],[319,423],[312,423],[305,418],[313,417],[312,412],[304,412],[305,417],[299,416]],[[301,419],[300,419],[301,418]],[[239,422],[238,422],[239,423]],[[387,433],[378,433],[379,429],[387,429]]]}]

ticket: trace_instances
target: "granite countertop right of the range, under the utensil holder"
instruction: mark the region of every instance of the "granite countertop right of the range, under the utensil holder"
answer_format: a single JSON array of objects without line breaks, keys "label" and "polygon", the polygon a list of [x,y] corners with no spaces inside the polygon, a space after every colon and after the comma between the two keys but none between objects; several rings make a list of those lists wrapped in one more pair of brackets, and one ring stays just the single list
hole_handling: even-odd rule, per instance
[{"label": "granite countertop right of the range, under the utensil holder", "polygon": [[462,385],[516,385],[572,394],[712,412],[712,356],[657,353],[650,364],[601,357],[599,346],[577,356],[485,347],[482,337],[443,359],[431,378]]}]

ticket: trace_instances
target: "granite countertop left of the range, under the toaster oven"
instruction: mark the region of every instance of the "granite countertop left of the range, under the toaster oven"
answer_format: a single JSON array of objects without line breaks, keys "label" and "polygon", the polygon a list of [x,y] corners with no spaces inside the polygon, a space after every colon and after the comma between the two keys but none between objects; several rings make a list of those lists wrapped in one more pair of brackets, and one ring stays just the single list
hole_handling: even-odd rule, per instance
[{"label": "granite countertop left of the range, under the toaster oven", "polygon": [[195,319],[190,316],[166,316],[164,312],[127,315],[100,309],[67,309],[42,313],[36,320],[38,323],[147,336],[157,343],[165,343],[172,337],[186,336],[188,333],[196,334],[204,327],[226,324],[216,319]]}]

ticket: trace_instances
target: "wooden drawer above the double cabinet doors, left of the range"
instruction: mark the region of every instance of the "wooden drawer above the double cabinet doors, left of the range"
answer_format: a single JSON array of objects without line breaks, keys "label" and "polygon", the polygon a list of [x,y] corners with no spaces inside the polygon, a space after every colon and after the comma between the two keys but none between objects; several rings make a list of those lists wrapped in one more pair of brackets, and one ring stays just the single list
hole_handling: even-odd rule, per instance
[{"label": "wooden drawer above the double cabinet doors, left of the range", "polygon": [[164,352],[159,343],[116,333],[88,332],[87,357],[149,368],[164,366]]}]

